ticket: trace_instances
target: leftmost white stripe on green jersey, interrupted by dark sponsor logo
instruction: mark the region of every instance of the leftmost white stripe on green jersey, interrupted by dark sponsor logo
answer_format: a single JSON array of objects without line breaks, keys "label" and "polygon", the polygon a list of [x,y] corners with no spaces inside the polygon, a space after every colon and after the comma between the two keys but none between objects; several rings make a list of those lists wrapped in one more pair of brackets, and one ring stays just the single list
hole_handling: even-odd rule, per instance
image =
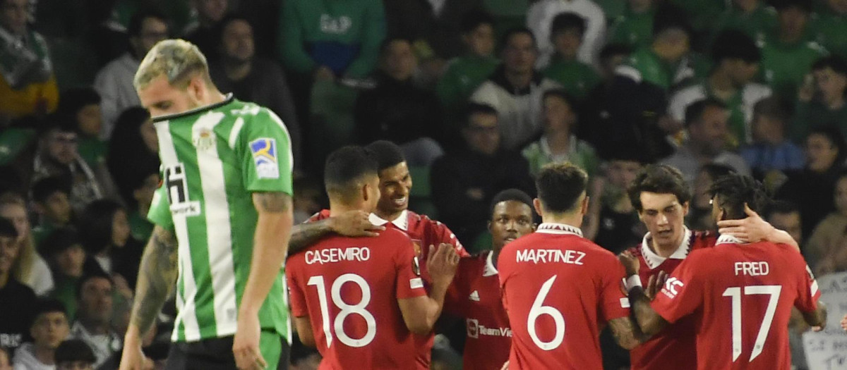
[{"label": "leftmost white stripe on green jersey, interrupted by dark sponsor logo", "polygon": [[[174,138],[170,134],[170,124],[168,121],[156,123],[156,134],[159,141],[159,155],[162,157],[162,165],[175,166],[180,161],[176,156],[176,147],[174,146]],[[195,312],[194,299],[197,297],[197,283],[194,280],[194,272],[191,269],[191,250],[188,247],[188,226],[185,222],[184,214],[171,214],[174,220],[174,231],[176,231],[176,240],[179,243],[177,248],[178,259],[182,269],[180,277],[183,282],[183,305],[179,314],[177,314],[174,322],[174,337],[177,336],[177,329],[182,324],[185,327],[185,340],[199,340],[200,326],[197,324],[197,313]]]}]

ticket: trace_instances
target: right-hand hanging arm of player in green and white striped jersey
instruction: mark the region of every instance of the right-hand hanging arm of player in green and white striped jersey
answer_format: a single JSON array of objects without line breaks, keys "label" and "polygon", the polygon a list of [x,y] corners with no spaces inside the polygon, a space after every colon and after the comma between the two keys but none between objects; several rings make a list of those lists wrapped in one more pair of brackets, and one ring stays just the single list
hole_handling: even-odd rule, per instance
[{"label": "right-hand hanging arm of player in green and white striped jersey", "polygon": [[[259,350],[259,308],[268,292],[279,279],[280,269],[288,252],[291,223],[294,220],[291,195],[282,192],[253,193],[253,205],[258,213],[253,237],[250,274],[238,307],[238,326],[232,351],[240,369],[264,367],[267,362]],[[288,294],[282,291],[282,294]]]}]

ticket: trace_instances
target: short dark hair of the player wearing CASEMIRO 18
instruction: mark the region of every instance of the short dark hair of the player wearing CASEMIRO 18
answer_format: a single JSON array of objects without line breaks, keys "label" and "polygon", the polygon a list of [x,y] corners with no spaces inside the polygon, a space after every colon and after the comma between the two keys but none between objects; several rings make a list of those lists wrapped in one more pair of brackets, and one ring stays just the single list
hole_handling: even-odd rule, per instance
[{"label": "short dark hair of the player wearing CASEMIRO 18", "polygon": [[330,194],[347,196],[357,180],[379,176],[374,155],[361,146],[348,145],[329,153],[324,165],[324,186]]}]

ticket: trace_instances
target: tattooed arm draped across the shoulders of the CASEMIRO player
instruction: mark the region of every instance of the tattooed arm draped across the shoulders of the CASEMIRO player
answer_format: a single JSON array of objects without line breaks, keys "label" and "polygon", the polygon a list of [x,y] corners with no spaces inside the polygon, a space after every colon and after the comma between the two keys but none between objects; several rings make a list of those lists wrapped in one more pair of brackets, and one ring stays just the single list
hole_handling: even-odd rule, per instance
[{"label": "tattooed arm draped across the shoulders of the CASEMIRO player", "polygon": [[302,252],[323,237],[335,233],[345,237],[376,237],[384,226],[376,226],[368,219],[368,212],[349,210],[324,220],[315,220],[291,227],[288,254]]}]

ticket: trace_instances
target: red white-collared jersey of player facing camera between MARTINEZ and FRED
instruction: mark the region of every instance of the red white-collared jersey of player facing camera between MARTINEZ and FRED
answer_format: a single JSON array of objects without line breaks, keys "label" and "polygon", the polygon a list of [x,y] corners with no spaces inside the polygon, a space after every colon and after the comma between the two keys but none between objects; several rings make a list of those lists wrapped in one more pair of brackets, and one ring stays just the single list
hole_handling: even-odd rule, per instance
[{"label": "red white-collared jersey of player facing camera between MARTINEZ and FRED", "polygon": [[[647,284],[650,276],[658,275],[660,271],[667,274],[673,272],[684,258],[696,249],[714,247],[717,237],[707,231],[690,231],[685,229],[685,237],[677,252],[668,258],[663,258],[650,249],[650,233],[638,247],[629,251],[639,257],[641,267],[639,276],[641,282]],[[694,335],[694,318],[680,319],[676,324],[668,325],[661,333],[629,351],[633,370],[664,370],[668,363],[678,370],[693,370],[697,368],[696,341]]]}]

